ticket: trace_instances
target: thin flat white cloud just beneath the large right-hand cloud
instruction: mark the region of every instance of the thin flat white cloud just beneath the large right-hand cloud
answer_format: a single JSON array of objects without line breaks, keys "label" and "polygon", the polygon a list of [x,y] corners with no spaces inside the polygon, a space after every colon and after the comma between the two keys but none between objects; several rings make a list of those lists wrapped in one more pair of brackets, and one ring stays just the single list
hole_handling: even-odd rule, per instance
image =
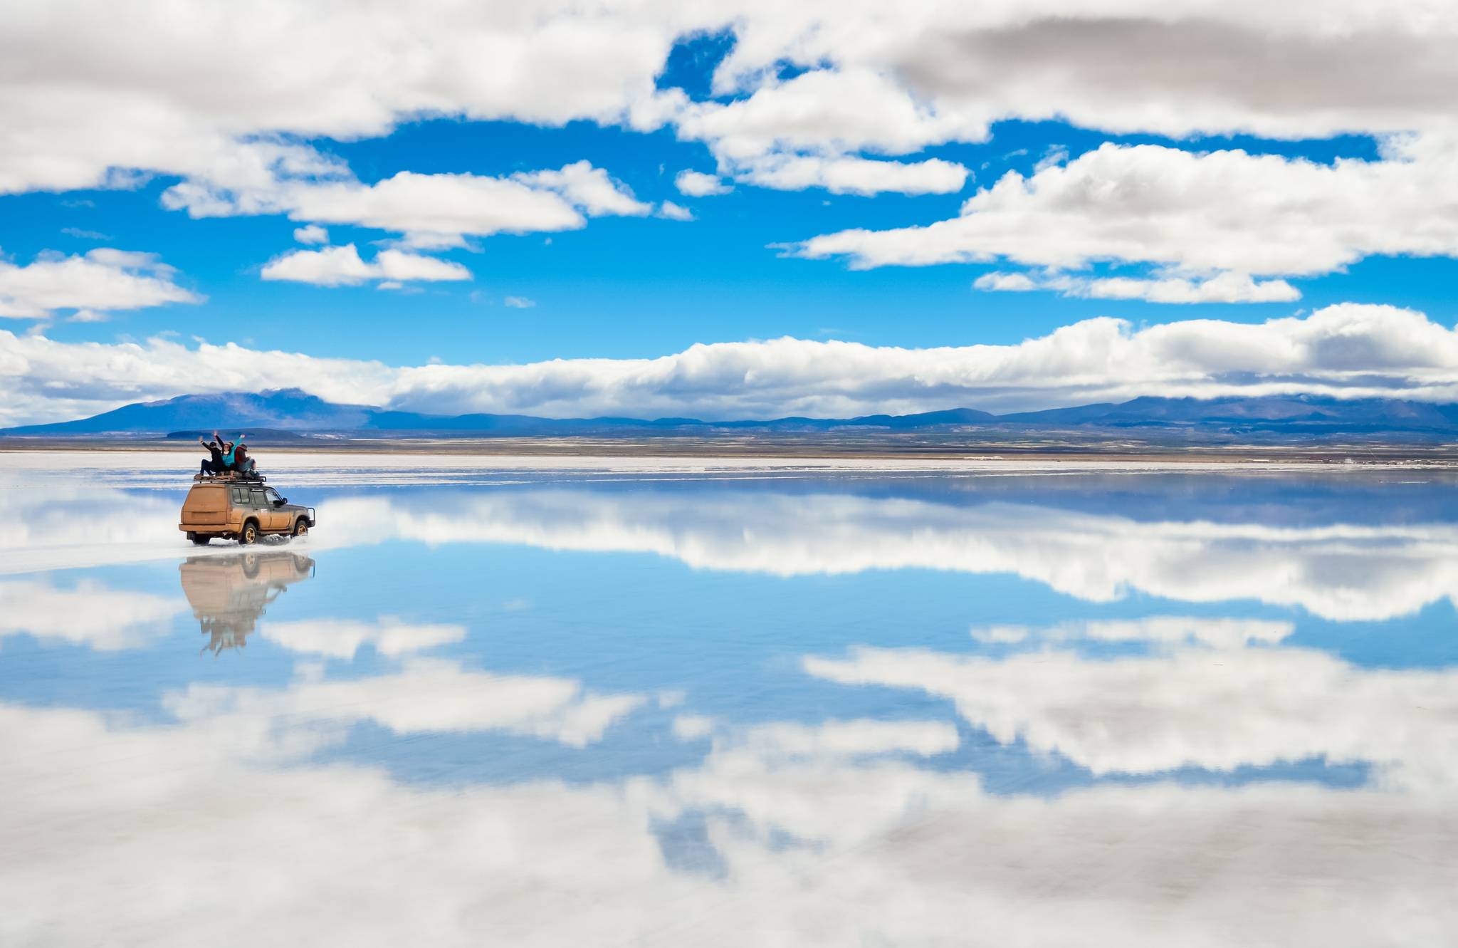
[{"label": "thin flat white cloud just beneath the large right-hand cloud", "polygon": [[987,273],[972,281],[978,290],[1057,290],[1089,299],[1147,299],[1153,303],[1283,303],[1301,299],[1301,290],[1286,280],[1254,280],[1244,273],[1217,273],[1207,279],[1077,277],[1025,273]]}]

